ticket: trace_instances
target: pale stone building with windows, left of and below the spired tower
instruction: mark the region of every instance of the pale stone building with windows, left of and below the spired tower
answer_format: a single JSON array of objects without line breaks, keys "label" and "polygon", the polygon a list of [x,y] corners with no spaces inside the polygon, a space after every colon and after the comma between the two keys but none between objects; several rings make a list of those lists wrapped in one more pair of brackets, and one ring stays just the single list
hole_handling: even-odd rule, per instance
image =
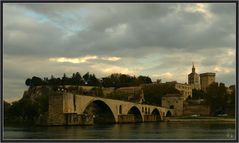
[{"label": "pale stone building with windows, left of and below the spired tower", "polygon": [[173,84],[174,87],[180,91],[184,100],[186,100],[188,97],[192,97],[191,85],[187,83],[177,83],[176,81],[166,82],[166,84]]}]

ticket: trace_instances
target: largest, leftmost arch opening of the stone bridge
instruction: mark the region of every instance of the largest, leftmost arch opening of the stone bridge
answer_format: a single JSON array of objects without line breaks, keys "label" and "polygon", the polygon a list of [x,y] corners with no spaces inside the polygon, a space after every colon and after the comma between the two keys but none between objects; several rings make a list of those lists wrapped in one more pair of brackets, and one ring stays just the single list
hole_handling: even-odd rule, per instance
[{"label": "largest, leftmost arch opening of the stone bridge", "polygon": [[93,99],[86,104],[84,114],[93,114],[94,123],[115,123],[116,118],[111,107],[103,100]]}]

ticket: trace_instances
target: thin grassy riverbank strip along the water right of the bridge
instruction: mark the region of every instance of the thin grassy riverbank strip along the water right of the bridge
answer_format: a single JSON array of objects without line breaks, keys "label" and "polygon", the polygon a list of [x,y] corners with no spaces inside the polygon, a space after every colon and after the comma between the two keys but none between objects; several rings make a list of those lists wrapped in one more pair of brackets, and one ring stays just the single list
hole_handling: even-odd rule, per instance
[{"label": "thin grassy riverbank strip along the water right of the bridge", "polygon": [[236,122],[235,117],[214,117],[214,116],[180,116],[180,117],[167,117],[165,119],[167,122]]}]

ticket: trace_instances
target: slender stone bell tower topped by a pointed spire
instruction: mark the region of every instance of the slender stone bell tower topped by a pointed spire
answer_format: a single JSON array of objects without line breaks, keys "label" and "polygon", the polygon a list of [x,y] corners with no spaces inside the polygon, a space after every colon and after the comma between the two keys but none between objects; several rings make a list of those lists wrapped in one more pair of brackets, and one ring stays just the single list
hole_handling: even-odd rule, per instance
[{"label": "slender stone bell tower topped by a pointed spire", "polygon": [[192,67],[192,72],[188,74],[188,84],[191,85],[192,89],[197,89],[197,90],[201,89],[199,74],[196,73],[194,64]]}]

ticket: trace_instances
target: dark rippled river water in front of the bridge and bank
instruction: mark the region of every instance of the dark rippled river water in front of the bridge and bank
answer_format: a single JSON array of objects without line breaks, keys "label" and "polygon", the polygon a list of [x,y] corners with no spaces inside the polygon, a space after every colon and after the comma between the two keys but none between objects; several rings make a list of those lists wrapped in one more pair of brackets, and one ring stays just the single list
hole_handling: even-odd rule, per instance
[{"label": "dark rippled river water in front of the bridge and bank", "polygon": [[151,122],[93,126],[6,126],[4,139],[235,139],[231,122]]}]

